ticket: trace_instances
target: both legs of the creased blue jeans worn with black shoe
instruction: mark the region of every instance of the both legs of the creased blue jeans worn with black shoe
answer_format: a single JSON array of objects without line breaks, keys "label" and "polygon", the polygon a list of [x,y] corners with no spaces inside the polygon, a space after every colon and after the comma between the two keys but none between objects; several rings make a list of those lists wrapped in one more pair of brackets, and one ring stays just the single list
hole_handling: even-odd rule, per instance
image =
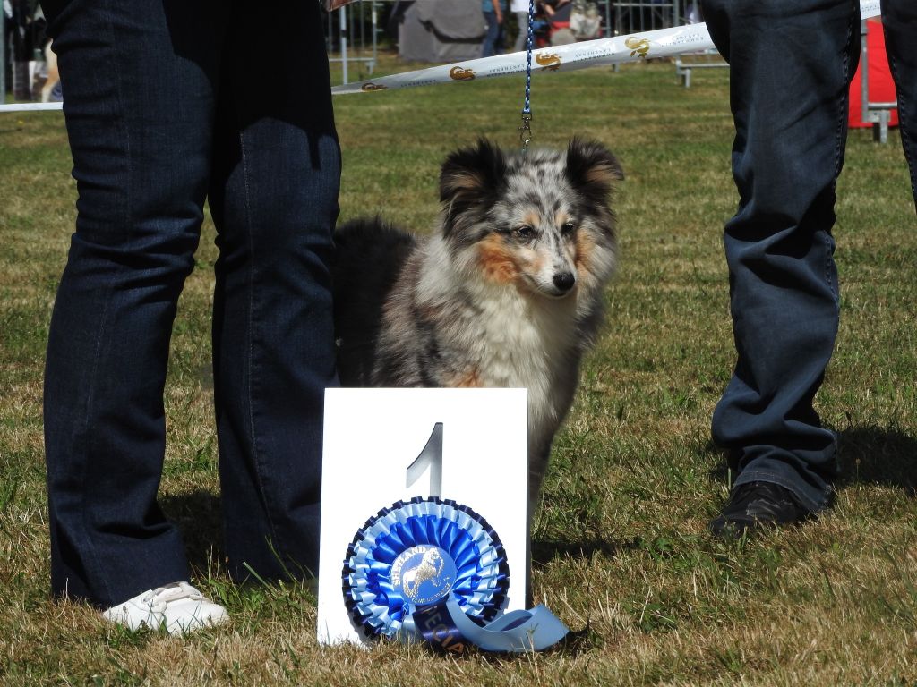
[{"label": "both legs of the creased blue jeans worn with black shoe", "polygon": [[[917,22],[912,0],[886,5],[912,163]],[[836,469],[834,432],[812,400],[838,326],[834,182],[859,54],[858,2],[704,0],[703,10],[731,65],[739,191],[724,233],[738,361],[713,413],[713,439],[734,461],[736,485],[783,485],[817,511]]]}]

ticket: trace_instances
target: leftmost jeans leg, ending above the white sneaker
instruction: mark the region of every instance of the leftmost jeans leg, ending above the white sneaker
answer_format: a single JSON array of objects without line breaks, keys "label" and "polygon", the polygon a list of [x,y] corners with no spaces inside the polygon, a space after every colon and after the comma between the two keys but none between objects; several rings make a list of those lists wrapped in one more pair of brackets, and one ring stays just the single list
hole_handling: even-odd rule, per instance
[{"label": "leftmost jeans leg, ending above the white sneaker", "polygon": [[162,391],[203,216],[221,20],[199,2],[46,11],[78,189],[45,377],[51,584],[110,606],[188,577],[156,502]]}]

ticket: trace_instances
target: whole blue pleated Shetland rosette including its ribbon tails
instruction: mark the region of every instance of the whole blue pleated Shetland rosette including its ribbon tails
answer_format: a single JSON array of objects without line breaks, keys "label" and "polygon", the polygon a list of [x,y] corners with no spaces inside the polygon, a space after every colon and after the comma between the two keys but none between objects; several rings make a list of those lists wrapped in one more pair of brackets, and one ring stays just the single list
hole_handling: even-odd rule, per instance
[{"label": "whole blue pleated Shetland rosette including its ribbon tails", "polygon": [[449,499],[382,508],[348,547],[344,601],[368,638],[461,652],[542,650],[568,629],[543,605],[501,615],[506,551],[487,520]]}]

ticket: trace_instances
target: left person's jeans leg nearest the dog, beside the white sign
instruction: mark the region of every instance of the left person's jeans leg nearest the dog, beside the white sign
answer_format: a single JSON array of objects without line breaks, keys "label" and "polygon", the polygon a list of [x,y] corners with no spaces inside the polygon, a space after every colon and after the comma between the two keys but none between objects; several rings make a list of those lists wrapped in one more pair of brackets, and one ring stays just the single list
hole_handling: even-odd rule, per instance
[{"label": "left person's jeans leg nearest the dog, beside the white sign", "polygon": [[[264,5],[261,5],[264,7]],[[231,17],[210,207],[214,369],[230,573],[317,573],[340,153],[318,4]]]}]

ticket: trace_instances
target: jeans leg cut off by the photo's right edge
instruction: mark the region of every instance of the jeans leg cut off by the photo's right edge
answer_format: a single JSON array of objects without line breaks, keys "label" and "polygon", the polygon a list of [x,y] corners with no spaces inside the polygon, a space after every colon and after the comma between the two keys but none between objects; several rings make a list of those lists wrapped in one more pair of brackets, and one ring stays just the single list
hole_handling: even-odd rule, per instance
[{"label": "jeans leg cut off by the photo's right edge", "polygon": [[882,26],[898,91],[901,145],[911,169],[911,193],[917,204],[917,3],[882,0]]}]

